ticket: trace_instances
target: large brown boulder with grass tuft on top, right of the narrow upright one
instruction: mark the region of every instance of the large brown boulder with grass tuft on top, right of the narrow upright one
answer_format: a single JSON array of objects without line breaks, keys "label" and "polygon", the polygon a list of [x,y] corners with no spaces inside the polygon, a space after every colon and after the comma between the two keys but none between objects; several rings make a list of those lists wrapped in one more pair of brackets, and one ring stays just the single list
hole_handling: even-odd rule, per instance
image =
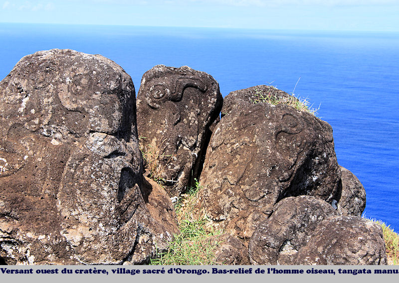
[{"label": "large brown boulder with grass tuft on top, right of the narrow upright one", "polygon": [[[331,203],[341,178],[331,126],[289,105],[253,104],[245,98],[253,89],[225,97],[224,116],[212,134],[201,173],[201,205],[214,225],[223,228],[254,211],[264,214],[255,217],[262,220],[288,196],[307,194]],[[257,225],[237,221],[243,231]]]}]

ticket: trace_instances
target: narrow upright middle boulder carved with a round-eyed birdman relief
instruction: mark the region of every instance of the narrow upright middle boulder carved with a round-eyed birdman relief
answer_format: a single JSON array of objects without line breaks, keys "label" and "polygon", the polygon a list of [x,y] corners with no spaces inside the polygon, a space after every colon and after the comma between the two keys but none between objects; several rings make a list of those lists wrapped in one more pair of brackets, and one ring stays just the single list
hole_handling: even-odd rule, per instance
[{"label": "narrow upright middle boulder carved with a round-eyed birdman relief", "polygon": [[219,85],[204,72],[157,65],[144,74],[137,97],[140,143],[157,152],[171,195],[179,195],[199,175],[208,129],[221,105]]}]

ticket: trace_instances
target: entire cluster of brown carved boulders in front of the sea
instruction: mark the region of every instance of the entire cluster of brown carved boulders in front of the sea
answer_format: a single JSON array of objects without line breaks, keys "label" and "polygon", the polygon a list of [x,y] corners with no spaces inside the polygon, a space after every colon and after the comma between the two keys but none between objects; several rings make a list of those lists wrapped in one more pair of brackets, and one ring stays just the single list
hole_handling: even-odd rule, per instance
[{"label": "entire cluster of brown carved boulders in front of the sea", "polygon": [[227,233],[198,242],[216,264],[386,264],[331,126],[298,102],[256,86],[219,118],[211,76],[158,65],[136,119],[132,80],[109,59],[25,56],[0,82],[0,264],[147,263],[180,233],[171,199],[199,176],[197,206],[178,203]]}]

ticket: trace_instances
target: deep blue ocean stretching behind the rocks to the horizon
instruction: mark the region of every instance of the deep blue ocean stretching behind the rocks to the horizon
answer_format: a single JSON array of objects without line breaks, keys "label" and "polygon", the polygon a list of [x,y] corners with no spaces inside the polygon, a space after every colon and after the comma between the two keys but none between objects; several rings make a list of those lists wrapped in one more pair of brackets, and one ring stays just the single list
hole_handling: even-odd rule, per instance
[{"label": "deep blue ocean stretching behind the rocks to the horizon", "polygon": [[399,231],[399,33],[0,23],[0,80],[21,57],[52,48],[110,58],[136,94],[158,64],[204,71],[223,96],[295,89],[332,125],[338,163],[366,189],[364,215]]}]

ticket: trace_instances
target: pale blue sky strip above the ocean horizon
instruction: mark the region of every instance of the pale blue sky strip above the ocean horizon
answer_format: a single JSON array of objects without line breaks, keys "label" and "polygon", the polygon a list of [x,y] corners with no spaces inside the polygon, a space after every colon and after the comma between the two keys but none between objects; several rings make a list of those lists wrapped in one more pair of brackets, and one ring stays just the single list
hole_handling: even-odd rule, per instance
[{"label": "pale blue sky strip above the ocean horizon", "polygon": [[0,0],[0,22],[399,31],[399,0]]}]

